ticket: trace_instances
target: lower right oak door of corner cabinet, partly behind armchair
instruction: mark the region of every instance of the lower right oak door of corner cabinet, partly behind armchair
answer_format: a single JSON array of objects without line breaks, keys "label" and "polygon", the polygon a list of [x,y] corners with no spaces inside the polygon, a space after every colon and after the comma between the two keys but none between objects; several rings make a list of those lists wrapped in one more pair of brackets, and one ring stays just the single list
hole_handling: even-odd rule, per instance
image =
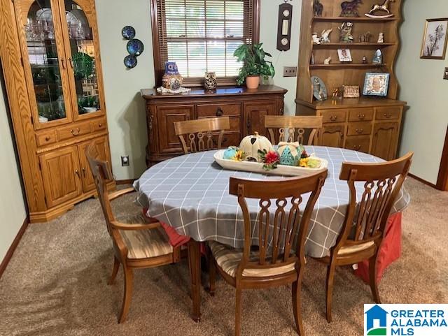
[{"label": "lower right oak door of corner cabinet, partly behind armchair", "polygon": [[[100,141],[101,140],[101,141]],[[111,168],[111,158],[109,157],[109,140],[106,136],[94,140],[87,141],[85,143],[81,143],[78,145],[79,152],[79,162],[81,165],[81,173],[82,173],[82,181],[83,181],[83,190],[86,193],[87,191],[91,191],[95,189],[95,183],[93,180],[92,170],[90,170],[89,163],[87,161],[87,157],[85,156],[85,149],[95,141],[97,143],[97,151],[99,154],[99,159],[103,161],[109,162],[109,168]]]}]

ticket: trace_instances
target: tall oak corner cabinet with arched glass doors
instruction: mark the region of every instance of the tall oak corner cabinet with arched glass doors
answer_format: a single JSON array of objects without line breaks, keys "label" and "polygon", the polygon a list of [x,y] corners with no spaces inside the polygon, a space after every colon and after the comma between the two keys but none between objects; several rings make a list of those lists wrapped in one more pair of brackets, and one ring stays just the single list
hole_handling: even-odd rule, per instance
[{"label": "tall oak corner cabinet with arched glass doors", "polygon": [[30,221],[48,221],[94,195],[92,140],[111,161],[94,0],[0,0],[0,59]]}]

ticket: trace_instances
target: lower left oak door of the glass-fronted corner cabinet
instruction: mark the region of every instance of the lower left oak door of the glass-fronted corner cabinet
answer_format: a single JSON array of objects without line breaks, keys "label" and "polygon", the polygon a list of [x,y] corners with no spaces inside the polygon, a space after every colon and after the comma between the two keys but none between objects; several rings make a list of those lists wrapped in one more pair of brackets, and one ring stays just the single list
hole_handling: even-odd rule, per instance
[{"label": "lower left oak door of the glass-fronted corner cabinet", "polygon": [[83,192],[76,146],[39,156],[48,207],[76,198]]}]

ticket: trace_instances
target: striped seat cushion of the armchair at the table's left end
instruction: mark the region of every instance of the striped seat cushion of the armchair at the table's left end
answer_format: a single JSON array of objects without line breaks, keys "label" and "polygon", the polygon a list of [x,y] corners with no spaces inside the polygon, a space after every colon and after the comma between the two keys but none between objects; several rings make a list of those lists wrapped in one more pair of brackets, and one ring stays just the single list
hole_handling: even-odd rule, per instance
[{"label": "striped seat cushion of the armchair at the table's left end", "polygon": [[[142,214],[127,217],[123,221],[129,224],[145,224],[148,222]],[[128,250],[127,258],[144,259],[173,253],[173,247],[169,244],[163,228],[120,230],[119,232]]]}]

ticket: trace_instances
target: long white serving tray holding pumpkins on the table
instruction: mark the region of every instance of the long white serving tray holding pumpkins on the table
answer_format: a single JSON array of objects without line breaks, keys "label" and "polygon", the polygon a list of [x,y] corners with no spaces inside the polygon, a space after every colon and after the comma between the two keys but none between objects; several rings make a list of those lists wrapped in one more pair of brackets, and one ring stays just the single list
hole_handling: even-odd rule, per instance
[{"label": "long white serving tray holding pumpkins on the table", "polygon": [[251,173],[262,173],[262,174],[283,175],[283,176],[306,176],[320,173],[321,171],[328,168],[327,160],[314,157],[315,159],[319,159],[321,161],[321,166],[319,168],[283,166],[279,164],[277,165],[276,169],[264,170],[262,163],[223,159],[224,152],[225,149],[218,150],[214,154],[214,159],[216,163],[218,163],[218,165],[228,170],[243,170]]}]

